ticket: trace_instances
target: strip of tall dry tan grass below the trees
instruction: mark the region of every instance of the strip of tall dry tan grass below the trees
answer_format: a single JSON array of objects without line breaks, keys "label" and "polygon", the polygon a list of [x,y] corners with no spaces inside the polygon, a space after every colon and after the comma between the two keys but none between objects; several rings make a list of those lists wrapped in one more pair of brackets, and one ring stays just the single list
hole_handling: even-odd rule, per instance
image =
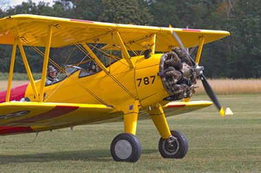
[{"label": "strip of tall dry tan grass below the trees", "polygon": [[[207,79],[216,94],[261,94],[261,79]],[[12,88],[29,83],[13,81]],[[198,79],[196,95],[206,94],[202,82]],[[8,81],[0,81],[0,92],[7,90]]]}]

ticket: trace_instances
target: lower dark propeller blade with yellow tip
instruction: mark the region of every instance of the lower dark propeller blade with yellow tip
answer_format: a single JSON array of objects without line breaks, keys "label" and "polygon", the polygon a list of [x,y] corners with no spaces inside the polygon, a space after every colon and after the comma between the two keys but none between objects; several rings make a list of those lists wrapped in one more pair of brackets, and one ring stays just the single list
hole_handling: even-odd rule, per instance
[{"label": "lower dark propeller blade with yellow tip", "polygon": [[205,88],[205,91],[207,92],[207,95],[212,99],[212,101],[216,105],[216,107],[218,107],[219,114],[221,116],[224,116],[225,111],[224,111],[223,107],[220,105],[220,103],[218,102],[218,98],[216,97],[215,92],[212,90],[212,88],[209,85],[209,83],[207,82],[207,79],[205,78],[205,76],[202,74],[200,77],[201,77],[203,86]]}]

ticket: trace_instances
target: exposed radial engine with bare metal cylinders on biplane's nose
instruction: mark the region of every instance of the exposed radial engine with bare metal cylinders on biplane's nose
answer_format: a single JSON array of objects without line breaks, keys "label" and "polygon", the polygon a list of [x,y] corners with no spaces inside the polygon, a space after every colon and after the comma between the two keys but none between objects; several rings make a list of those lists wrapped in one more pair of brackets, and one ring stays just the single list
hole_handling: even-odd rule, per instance
[{"label": "exposed radial engine with bare metal cylinders on biplane's nose", "polygon": [[[170,96],[163,101],[177,101],[182,98],[190,98],[195,92],[196,72],[190,60],[182,48],[174,47],[172,52],[165,53],[161,57],[158,75],[165,90]],[[201,67],[203,70],[203,67]]]}]

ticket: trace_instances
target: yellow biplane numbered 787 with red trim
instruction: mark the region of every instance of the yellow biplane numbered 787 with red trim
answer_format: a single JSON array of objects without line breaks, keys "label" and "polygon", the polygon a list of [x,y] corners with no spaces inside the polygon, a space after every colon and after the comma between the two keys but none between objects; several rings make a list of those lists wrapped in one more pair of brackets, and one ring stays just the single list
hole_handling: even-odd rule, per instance
[{"label": "yellow biplane numbered 787 with red trim", "polygon": [[[0,93],[0,135],[124,122],[124,133],[111,143],[111,155],[115,161],[135,162],[141,155],[141,143],[135,136],[137,120],[152,119],[161,135],[162,157],[183,158],[188,141],[179,131],[170,131],[166,117],[212,105],[210,101],[190,101],[196,76],[220,114],[225,114],[203,75],[203,67],[198,66],[203,44],[225,36],[229,32],[28,14],[1,18],[0,44],[12,44],[13,48],[8,90]],[[66,66],[52,61],[50,48],[72,44],[89,58]],[[93,53],[98,44],[104,44],[99,49],[102,57]],[[11,88],[17,45],[30,83]],[[41,80],[34,81],[23,46],[32,46],[43,55]],[[39,46],[45,47],[44,53],[37,49]],[[195,60],[185,51],[193,46],[198,46]],[[115,50],[120,55],[112,55]],[[100,70],[89,74],[80,68],[79,64],[90,61]],[[65,73],[65,78],[46,85],[48,64]]]}]

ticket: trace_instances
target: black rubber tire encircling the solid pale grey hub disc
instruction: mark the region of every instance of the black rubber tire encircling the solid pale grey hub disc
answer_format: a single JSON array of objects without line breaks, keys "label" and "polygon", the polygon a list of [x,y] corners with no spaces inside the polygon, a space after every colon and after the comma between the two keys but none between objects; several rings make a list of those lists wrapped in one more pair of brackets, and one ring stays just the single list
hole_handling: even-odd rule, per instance
[{"label": "black rubber tire encircling the solid pale grey hub disc", "polygon": [[[131,152],[129,153],[129,156],[126,158],[120,158],[117,155],[116,152],[116,146],[119,143],[127,143],[131,145]],[[117,135],[113,142],[111,142],[111,156],[115,161],[128,161],[128,162],[136,162],[139,160],[139,157],[141,156],[141,142],[139,141],[139,138],[137,138],[135,135],[131,133],[121,133],[120,135]]]}]

